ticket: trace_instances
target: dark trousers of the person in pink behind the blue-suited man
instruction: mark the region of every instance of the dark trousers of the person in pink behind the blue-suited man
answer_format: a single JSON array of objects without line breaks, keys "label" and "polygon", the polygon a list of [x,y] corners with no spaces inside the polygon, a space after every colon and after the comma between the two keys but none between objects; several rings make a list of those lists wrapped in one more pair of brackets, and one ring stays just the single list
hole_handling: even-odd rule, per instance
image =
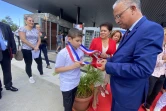
[{"label": "dark trousers of the person in pink behind the blue-suited man", "polygon": [[152,105],[154,99],[158,95],[158,93],[161,91],[161,88],[163,86],[165,80],[165,75],[160,76],[159,78],[150,76],[149,78],[149,90],[148,90],[148,96],[145,103],[146,108],[150,108]]}]

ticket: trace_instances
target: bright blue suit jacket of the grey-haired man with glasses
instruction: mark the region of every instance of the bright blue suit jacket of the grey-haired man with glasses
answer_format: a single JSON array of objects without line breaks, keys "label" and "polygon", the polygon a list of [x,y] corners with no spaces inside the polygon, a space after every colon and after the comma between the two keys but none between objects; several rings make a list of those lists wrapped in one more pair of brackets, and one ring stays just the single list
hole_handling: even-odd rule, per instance
[{"label": "bright blue suit jacket of the grey-haired man with glasses", "polygon": [[143,17],[106,63],[113,98],[120,106],[138,109],[145,101],[148,78],[162,52],[163,37],[163,28]]}]

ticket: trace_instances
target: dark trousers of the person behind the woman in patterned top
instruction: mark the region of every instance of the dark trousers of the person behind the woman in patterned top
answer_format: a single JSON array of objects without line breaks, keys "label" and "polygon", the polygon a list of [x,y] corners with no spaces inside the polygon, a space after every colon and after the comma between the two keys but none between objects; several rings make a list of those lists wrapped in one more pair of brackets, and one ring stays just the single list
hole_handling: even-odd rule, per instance
[{"label": "dark trousers of the person behind the woman in patterned top", "polygon": [[41,44],[39,49],[40,49],[40,55],[41,55],[41,51],[44,54],[44,58],[46,60],[47,66],[50,65],[49,60],[48,60],[48,55],[47,55],[47,46],[46,46],[46,44]]}]

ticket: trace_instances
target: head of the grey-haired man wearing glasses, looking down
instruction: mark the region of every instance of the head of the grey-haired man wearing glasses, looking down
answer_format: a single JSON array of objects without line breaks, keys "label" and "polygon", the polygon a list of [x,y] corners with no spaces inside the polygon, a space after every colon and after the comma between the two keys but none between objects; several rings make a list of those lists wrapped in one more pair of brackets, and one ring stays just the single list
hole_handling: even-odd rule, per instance
[{"label": "head of the grey-haired man wearing glasses, looking down", "polygon": [[129,29],[142,17],[140,0],[117,0],[113,5],[115,22],[123,29]]}]

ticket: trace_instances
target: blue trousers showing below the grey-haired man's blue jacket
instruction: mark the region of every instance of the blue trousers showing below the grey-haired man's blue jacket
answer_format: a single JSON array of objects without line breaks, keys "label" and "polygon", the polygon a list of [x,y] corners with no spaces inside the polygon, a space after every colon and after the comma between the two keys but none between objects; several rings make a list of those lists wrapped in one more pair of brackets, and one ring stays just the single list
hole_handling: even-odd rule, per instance
[{"label": "blue trousers showing below the grey-haired man's blue jacket", "polygon": [[138,111],[138,109],[127,109],[119,105],[115,99],[112,97],[112,107],[110,111]]}]

